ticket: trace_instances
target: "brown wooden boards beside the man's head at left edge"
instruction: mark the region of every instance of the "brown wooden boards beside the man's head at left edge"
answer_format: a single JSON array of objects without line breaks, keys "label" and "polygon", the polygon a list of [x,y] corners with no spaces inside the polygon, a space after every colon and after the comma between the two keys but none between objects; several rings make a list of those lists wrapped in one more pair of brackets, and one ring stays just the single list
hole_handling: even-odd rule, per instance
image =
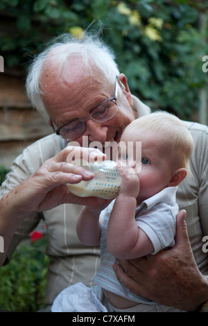
[{"label": "brown wooden boards beside the man's head at left edge", "polygon": [[0,165],[9,167],[28,144],[49,133],[47,122],[31,108],[24,76],[0,73]]}]

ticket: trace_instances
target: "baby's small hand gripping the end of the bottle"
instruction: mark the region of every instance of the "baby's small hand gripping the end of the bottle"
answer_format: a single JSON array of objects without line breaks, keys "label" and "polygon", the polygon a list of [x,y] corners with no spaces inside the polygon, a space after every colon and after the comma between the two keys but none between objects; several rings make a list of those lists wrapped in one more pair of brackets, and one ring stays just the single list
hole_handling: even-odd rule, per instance
[{"label": "baby's small hand gripping the end of the bottle", "polygon": [[139,194],[139,177],[132,167],[129,165],[117,165],[117,169],[121,175],[121,186],[119,189],[120,194],[126,194],[137,198]]}]

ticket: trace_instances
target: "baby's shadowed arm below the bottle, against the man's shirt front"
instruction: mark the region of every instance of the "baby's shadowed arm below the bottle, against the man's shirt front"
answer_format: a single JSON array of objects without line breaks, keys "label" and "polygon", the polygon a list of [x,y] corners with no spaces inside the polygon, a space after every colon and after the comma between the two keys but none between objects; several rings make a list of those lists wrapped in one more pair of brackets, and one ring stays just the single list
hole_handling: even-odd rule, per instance
[{"label": "baby's shadowed arm below the bottle, against the man's shirt front", "polygon": [[96,208],[83,207],[76,223],[78,239],[85,246],[96,246],[100,243],[101,221],[99,219],[102,210],[110,204],[111,200],[98,198]]}]

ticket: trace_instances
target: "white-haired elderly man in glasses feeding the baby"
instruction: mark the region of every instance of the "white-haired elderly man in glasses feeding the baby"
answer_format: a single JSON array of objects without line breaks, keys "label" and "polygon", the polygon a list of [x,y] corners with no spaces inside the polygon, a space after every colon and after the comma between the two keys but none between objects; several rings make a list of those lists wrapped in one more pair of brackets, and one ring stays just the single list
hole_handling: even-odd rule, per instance
[{"label": "white-haired elderly man in glasses feeding the baby", "polygon": [[[114,62],[110,49],[93,37],[73,40],[64,35],[35,58],[27,78],[33,105],[45,115],[55,134],[40,139],[17,157],[0,192],[0,230],[5,240],[6,264],[17,243],[44,218],[48,232],[47,254],[51,258],[46,286],[46,307],[67,286],[93,283],[99,266],[99,248],[85,247],[76,237],[80,205],[96,205],[96,198],[72,195],[67,183],[89,180],[81,166],[67,162],[70,147],[94,141],[101,150],[119,142],[123,128],[150,109],[132,96],[128,81]],[[171,250],[119,261],[116,275],[129,289],[150,300],[186,311],[195,311],[208,300],[208,257],[202,238],[208,234],[206,126],[188,123],[193,136],[192,179],[182,182],[177,203],[187,210],[177,219],[176,245]],[[105,148],[107,146],[107,148]],[[101,155],[84,148],[87,155]],[[123,266],[123,268],[121,268]],[[126,273],[125,273],[125,272]]]}]

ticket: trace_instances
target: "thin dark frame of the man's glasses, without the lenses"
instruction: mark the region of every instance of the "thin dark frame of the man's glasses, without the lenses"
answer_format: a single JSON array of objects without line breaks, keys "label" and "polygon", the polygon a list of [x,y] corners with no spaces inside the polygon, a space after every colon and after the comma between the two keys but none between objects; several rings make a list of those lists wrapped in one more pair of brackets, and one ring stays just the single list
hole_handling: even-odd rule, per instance
[{"label": "thin dark frame of the man's glasses, without the lenses", "polygon": [[[85,122],[85,121],[87,121],[88,119],[92,119],[92,120],[94,120],[94,121],[96,121],[96,122],[102,123],[102,122],[105,122],[105,121],[108,121],[108,120],[112,119],[112,118],[116,115],[116,113],[118,112],[118,105],[117,105],[117,96],[118,96],[118,88],[119,88],[119,87],[118,87],[118,84],[119,84],[118,79],[119,79],[119,77],[116,76],[116,83],[115,83],[114,96],[112,96],[112,97],[110,97],[110,98],[106,98],[105,101],[103,101],[103,102],[101,102],[100,104],[96,105],[96,107],[93,108],[93,109],[89,112],[89,117],[87,117],[87,118],[85,118],[85,119],[82,119],[82,118],[73,119],[73,121],[79,120],[79,121],[83,121],[83,122]],[[104,104],[105,102],[107,102],[107,101],[112,101],[112,102],[114,102],[114,103],[116,104],[116,106],[117,106],[117,110],[116,110],[116,112],[114,113],[114,115],[113,115],[112,117],[110,117],[110,118],[108,118],[108,119],[105,119],[105,120],[102,120],[102,121],[98,121],[98,120],[94,119],[94,118],[92,117],[92,112],[93,112],[94,110],[96,110],[99,106],[103,105],[103,104]],[[72,122],[72,121],[71,121],[71,122]],[[64,127],[67,126],[70,122],[65,123],[63,126],[60,126],[60,128],[58,128],[58,129],[55,129],[55,126],[53,125],[53,122],[52,122],[51,119],[50,119],[50,123],[51,123],[51,126],[52,126],[53,131],[55,132],[55,134],[56,134],[56,135],[59,135],[60,137],[62,137],[62,135],[60,135],[60,130],[61,130],[61,128],[64,128]],[[85,130],[86,130],[86,123],[85,123]],[[84,132],[85,132],[85,130],[84,130]],[[84,133],[84,132],[83,132],[83,133]],[[72,139],[67,139],[67,141],[71,141],[71,140],[76,139],[76,138],[77,138],[77,137],[73,137]]]}]

